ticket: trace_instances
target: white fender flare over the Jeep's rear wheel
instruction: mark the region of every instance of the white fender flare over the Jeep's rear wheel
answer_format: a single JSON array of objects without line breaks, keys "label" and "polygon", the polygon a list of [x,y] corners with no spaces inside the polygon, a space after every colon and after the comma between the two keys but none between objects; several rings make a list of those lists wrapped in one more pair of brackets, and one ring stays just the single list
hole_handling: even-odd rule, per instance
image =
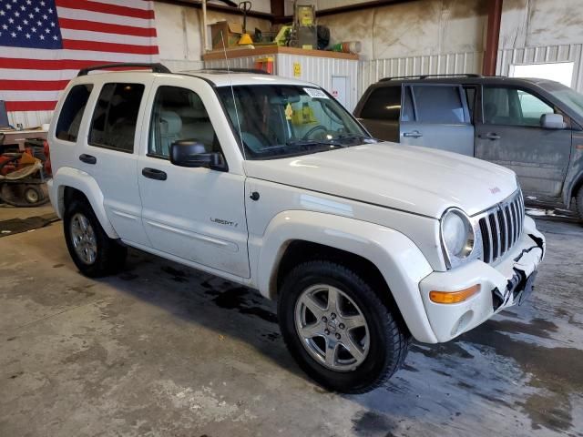
[{"label": "white fender flare over the Jeep's rear wheel", "polygon": [[103,230],[110,239],[118,239],[118,233],[107,219],[106,209],[103,206],[103,193],[97,181],[85,171],[77,168],[61,167],[48,183],[48,197],[56,210],[56,214],[63,219],[65,212],[65,188],[76,188],[89,200],[93,212],[97,216]]}]

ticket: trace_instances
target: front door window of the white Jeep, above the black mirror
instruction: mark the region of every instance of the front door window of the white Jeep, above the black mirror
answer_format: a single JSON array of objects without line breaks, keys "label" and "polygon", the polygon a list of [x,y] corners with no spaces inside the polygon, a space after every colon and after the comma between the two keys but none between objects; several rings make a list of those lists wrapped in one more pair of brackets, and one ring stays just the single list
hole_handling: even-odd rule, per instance
[{"label": "front door window of the white Jeep, above the black mirror", "polygon": [[148,154],[169,158],[170,146],[180,139],[196,139],[207,152],[220,151],[200,97],[186,88],[160,86],[152,110]]}]

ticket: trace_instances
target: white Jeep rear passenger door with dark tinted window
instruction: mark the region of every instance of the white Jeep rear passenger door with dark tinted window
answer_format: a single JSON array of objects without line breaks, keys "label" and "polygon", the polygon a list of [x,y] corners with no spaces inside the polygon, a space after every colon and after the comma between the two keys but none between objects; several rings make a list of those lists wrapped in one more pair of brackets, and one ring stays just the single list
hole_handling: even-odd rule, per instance
[{"label": "white Jeep rear passenger door with dark tinted window", "polygon": [[138,191],[138,144],[146,90],[151,79],[111,82],[101,86],[87,137],[77,150],[79,169],[91,175],[103,193],[107,219],[118,236],[148,244],[141,226]]}]

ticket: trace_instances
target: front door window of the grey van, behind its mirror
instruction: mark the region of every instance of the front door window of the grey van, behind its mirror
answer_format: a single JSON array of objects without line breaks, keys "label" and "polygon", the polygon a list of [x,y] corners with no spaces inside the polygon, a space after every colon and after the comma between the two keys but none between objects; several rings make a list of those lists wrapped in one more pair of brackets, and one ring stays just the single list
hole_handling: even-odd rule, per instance
[{"label": "front door window of the grey van, behind its mirror", "polygon": [[517,88],[484,88],[484,123],[509,126],[540,126],[543,114],[555,111],[540,98]]}]

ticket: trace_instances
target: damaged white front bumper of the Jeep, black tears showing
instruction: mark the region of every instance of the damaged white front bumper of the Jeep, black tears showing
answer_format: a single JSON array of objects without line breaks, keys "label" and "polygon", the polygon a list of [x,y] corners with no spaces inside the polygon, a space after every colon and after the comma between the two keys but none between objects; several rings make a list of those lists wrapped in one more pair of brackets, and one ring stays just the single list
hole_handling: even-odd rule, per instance
[{"label": "damaged white front bumper of the Jeep, black tears showing", "polygon": [[[498,311],[522,303],[532,290],[545,250],[545,237],[538,232],[533,219],[526,217],[522,239],[495,265],[477,259],[463,267],[425,277],[419,283],[419,290],[437,341],[452,340]],[[432,290],[464,290],[476,284],[480,290],[463,302],[440,304],[429,299]]]}]

